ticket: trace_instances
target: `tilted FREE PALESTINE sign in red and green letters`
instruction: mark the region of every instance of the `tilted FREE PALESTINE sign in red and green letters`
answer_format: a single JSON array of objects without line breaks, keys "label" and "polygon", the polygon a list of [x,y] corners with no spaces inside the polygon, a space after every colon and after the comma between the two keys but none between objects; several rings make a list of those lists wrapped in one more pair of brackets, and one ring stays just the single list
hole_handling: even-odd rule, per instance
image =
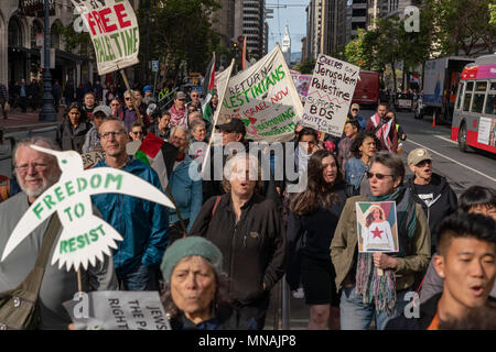
[{"label": "tilted FREE PALESTINE sign in red and green letters", "polygon": [[71,1],[89,30],[100,76],[138,64],[140,33],[128,0]]}]

